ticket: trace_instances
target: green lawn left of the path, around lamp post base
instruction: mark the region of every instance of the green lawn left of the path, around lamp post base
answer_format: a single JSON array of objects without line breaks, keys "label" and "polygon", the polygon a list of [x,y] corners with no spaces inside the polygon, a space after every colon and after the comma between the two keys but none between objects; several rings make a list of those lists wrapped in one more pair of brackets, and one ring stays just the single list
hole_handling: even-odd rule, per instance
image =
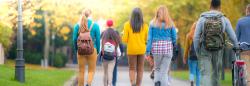
[{"label": "green lawn left of the path, around lamp post base", "polygon": [[37,65],[26,64],[25,83],[14,80],[14,63],[8,61],[0,65],[0,86],[63,86],[64,82],[74,75],[74,71],[48,68],[43,69]]}]

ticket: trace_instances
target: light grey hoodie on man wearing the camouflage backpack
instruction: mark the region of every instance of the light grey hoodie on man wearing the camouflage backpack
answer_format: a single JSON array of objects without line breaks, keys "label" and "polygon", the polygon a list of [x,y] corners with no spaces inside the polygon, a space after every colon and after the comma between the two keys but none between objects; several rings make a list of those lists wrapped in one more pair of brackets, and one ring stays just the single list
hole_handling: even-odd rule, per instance
[{"label": "light grey hoodie on man wearing the camouflage backpack", "polygon": [[[211,17],[211,16],[219,16],[219,15],[223,15],[221,12],[216,11],[216,10],[211,10],[208,12],[204,12],[201,14],[197,25],[196,25],[196,29],[195,29],[195,33],[194,33],[194,48],[195,51],[199,52],[200,49],[200,37],[201,37],[201,33],[204,31],[204,22],[205,22],[205,17]],[[228,37],[230,38],[230,40],[233,42],[234,47],[238,47],[238,42],[236,39],[236,35],[234,33],[233,27],[229,21],[228,18],[226,18],[225,16],[221,17],[222,18],[222,24],[223,24],[223,31],[226,32],[226,34],[228,35]]]}]

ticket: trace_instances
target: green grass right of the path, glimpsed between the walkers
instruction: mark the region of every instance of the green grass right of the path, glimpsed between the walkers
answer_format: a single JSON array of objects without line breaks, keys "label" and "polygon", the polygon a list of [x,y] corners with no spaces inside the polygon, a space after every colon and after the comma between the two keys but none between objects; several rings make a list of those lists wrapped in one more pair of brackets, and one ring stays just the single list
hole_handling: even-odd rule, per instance
[{"label": "green grass right of the path, glimpsed between the walkers", "polygon": [[[189,80],[189,71],[174,71],[171,72],[171,75],[174,78],[180,80]],[[225,80],[221,80],[221,86],[231,86],[232,85],[232,76],[231,72],[227,71],[225,74]]]}]

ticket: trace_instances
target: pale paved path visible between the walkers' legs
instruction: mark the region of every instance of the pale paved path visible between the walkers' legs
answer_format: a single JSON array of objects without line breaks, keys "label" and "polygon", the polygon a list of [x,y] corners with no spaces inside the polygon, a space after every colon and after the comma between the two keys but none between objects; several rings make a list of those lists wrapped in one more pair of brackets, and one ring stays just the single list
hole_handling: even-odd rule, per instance
[{"label": "pale paved path visible between the walkers' legs", "polygon": [[[142,86],[154,86],[153,81],[149,78],[150,72],[144,72]],[[86,75],[86,74],[85,74]],[[129,76],[127,67],[118,67],[118,80],[117,86],[130,86]],[[75,81],[76,76],[73,76],[64,86],[73,86],[72,83]],[[86,79],[85,79],[86,80]],[[177,79],[171,80],[172,86],[189,86],[187,81],[181,81]],[[93,86],[103,85],[103,71],[102,67],[97,67],[96,74],[93,81]]]}]

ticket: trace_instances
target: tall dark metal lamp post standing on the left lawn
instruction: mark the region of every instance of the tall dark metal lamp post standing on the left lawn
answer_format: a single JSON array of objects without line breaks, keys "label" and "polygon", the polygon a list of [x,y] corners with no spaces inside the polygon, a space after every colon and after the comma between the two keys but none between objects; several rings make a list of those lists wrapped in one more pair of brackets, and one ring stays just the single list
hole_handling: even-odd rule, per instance
[{"label": "tall dark metal lamp post standing on the left lawn", "polygon": [[22,0],[18,0],[18,29],[17,29],[17,57],[15,66],[15,79],[25,82],[25,66],[23,59],[23,25],[22,25]]}]

